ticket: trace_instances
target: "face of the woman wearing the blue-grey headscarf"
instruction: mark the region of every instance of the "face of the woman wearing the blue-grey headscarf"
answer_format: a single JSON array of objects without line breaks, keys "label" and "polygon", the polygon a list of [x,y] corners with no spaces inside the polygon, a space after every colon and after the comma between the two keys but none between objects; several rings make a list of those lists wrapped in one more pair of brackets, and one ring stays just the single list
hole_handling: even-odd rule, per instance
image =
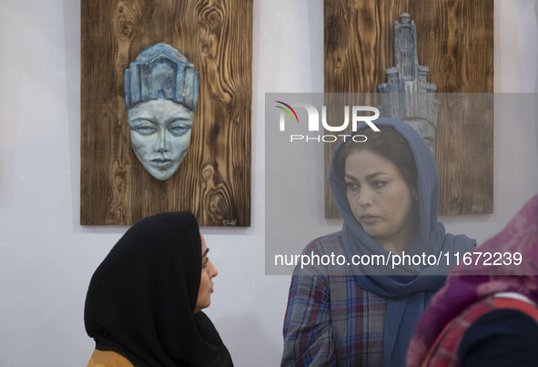
[{"label": "face of the woman wearing the blue-grey headscarf", "polygon": [[415,235],[413,198],[394,164],[369,150],[345,161],[348,201],[362,229],[385,250],[401,252]]}]

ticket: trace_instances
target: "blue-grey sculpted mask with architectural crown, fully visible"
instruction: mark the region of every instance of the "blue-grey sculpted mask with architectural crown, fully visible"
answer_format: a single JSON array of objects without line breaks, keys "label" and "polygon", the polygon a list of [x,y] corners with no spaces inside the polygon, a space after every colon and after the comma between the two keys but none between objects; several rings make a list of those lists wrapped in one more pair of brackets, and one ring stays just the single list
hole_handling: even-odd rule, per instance
[{"label": "blue-grey sculpted mask with architectural crown, fully visible", "polygon": [[125,72],[131,145],[158,180],[170,178],[187,155],[198,85],[194,65],[167,44],[147,47]]}]

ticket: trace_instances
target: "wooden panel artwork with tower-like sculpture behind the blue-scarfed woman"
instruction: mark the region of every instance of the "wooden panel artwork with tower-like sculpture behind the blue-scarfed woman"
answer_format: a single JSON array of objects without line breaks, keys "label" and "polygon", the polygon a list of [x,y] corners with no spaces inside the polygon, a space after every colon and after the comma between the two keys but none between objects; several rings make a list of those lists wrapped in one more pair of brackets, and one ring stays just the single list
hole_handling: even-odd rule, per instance
[{"label": "wooden panel artwork with tower-like sculpture behind the blue-scarfed woman", "polygon": [[[430,140],[439,214],[492,213],[493,0],[324,0],[324,19],[325,103],[379,90],[361,102]],[[325,218],[339,217],[326,184]]]}]

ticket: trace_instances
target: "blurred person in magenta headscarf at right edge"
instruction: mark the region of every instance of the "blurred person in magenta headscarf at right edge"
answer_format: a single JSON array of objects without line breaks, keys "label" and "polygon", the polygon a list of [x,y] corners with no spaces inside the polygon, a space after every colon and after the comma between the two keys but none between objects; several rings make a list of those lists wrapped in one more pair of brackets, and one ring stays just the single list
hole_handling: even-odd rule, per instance
[{"label": "blurred person in magenta headscarf at right edge", "polygon": [[407,365],[537,365],[538,195],[469,255],[417,322]]}]

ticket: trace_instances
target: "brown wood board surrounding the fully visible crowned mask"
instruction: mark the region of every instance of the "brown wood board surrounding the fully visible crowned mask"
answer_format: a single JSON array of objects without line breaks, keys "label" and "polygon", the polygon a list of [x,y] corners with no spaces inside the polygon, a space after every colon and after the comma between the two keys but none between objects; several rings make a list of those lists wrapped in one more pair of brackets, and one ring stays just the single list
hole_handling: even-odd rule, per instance
[{"label": "brown wood board surrounding the fully visible crowned mask", "polygon": [[[252,0],[82,0],[81,13],[81,224],[187,209],[201,226],[249,226]],[[200,73],[190,148],[166,181],[131,148],[123,88],[158,42]]]}]

